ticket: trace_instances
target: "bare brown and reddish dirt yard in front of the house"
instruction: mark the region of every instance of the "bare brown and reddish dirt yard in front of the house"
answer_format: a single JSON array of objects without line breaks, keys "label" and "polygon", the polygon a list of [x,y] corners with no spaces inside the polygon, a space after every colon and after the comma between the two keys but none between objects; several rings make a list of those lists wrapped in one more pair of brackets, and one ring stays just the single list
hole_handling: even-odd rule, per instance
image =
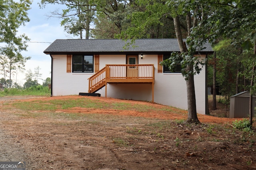
[{"label": "bare brown and reddish dirt yard in front of the house", "polygon": [[[90,98],[161,108],[76,107],[20,110],[24,101]],[[198,115],[202,124],[182,124],[186,111],[102,97],[0,98],[0,161],[25,161],[27,170],[255,170],[255,133],[232,127],[235,119]],[[165,110],[166,108],[166,110]],[[225,114],[223,106],[213,115]],[[220,111],[222,110],[222,111]]]}]

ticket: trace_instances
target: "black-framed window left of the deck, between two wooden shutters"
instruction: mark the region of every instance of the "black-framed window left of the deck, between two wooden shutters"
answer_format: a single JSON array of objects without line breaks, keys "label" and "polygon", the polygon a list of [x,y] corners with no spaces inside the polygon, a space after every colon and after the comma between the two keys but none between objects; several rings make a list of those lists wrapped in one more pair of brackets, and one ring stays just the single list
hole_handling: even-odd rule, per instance
[{"label": "black-framed window left of the deck, between two wooden shutters", "polygon": [[72,72],[93,72],[93,55],[73,55]]}]

